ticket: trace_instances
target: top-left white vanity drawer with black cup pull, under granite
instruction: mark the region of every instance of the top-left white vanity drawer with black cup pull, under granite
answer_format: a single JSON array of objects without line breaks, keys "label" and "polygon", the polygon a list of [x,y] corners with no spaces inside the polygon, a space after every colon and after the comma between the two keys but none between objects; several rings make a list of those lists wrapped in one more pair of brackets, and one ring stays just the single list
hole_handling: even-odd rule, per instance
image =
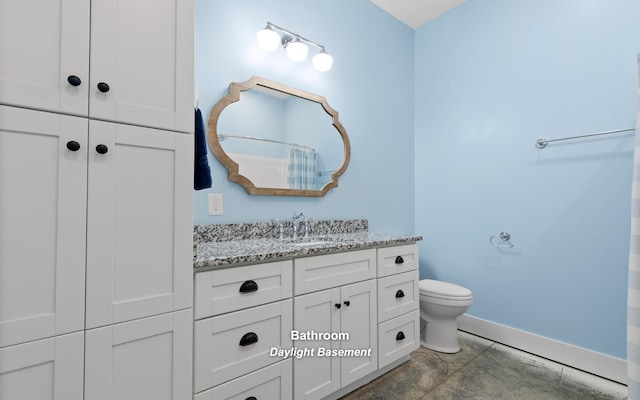
[{"label": "top-left white vanity drawer with black cup pull, under granite", "polygon": [[283,300],[293,293],[293,261],[197,272],[195,319]]}]

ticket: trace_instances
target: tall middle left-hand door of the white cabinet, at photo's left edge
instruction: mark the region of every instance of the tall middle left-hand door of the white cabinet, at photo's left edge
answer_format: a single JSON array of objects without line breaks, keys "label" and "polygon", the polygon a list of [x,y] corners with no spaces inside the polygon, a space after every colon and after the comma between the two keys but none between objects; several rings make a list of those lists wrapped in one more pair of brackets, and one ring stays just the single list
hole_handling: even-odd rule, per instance
[{"label": "tall middle left-hand door of the white cabinet, at photo's left edge", "polygon": [[84,329],[86,187],[86,119],[0,106],[0,347]]}]

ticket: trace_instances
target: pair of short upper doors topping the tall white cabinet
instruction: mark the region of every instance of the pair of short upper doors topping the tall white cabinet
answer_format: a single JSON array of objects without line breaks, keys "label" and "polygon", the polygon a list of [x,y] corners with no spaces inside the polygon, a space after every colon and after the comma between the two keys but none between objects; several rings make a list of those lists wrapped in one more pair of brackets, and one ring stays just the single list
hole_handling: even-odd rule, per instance
[{"label": "pair of short upper doors topping the tall white cabinet", "polygon": [[193,0],[0,0],[0,104],[193,130]]}]

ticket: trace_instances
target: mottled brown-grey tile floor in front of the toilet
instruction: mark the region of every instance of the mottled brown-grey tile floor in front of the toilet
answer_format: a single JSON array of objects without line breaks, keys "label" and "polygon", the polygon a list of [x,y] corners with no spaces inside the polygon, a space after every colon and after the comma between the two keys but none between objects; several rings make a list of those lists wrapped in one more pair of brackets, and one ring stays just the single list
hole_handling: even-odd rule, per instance
[{"label": "mottled brown-grey tile floor in front of the toilet", "polygon": [[420,348],[342,400],[624,400],[624,385],[460,332],[457,354]]}]

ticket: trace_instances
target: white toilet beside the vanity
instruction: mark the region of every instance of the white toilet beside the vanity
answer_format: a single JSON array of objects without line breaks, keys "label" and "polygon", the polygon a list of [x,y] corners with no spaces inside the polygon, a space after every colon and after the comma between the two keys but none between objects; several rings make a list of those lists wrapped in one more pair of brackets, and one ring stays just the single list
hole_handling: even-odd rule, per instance
[{"label": "white toilet beside the vanity", "polygon": [[456,319],[473,303],[473,293],[452,283],[423,279],[420,286],[420,345],[442,353],[457,353]]}]

